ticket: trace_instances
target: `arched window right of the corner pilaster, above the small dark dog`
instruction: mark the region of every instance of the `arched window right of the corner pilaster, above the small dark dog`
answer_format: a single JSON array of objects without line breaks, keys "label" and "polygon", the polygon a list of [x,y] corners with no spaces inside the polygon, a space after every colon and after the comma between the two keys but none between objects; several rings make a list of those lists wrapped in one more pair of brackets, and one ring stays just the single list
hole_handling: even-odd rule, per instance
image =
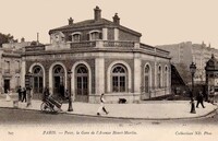
[{"label": "arched window right of the corner pilaster, above the small dark dog", "polygon": [[126,92],[126,70],[118,64],[112,69],[112,92]]}]

